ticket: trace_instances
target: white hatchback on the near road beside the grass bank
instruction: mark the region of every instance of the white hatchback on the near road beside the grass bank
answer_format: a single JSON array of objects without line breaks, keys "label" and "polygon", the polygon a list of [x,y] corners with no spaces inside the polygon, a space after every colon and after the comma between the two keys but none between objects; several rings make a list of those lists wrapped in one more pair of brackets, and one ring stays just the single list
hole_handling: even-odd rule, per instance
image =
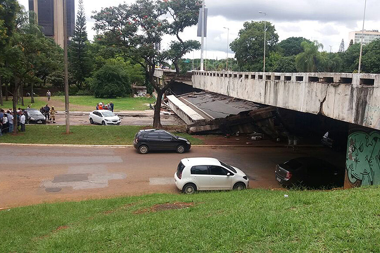
[{"label": "white hatchback on the near road beside the grass bank", "polygon": [[175,185],[182,193],[207,190],[244,190],[248,177],[237,167],[215,158],[184,158],[174,174]]}]

